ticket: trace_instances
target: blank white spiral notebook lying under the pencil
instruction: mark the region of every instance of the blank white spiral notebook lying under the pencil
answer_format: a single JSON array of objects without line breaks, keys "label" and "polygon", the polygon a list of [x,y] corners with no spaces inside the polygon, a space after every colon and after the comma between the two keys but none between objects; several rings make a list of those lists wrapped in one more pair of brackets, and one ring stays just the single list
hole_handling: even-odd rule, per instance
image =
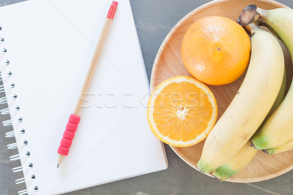
[{"label": "blank white spiral notebook lying under the pencil", "polygon": [[[29,0],[0,8],[2,114],[27,189],[57,195],[167,168],[146,119],[146,70],[128,0],[119,0],[69,155],[57,149],[112,0]],[[2,135],[3,136],[3,135]],[[17,179],[17,178],[16,178]],[[21,190],[21,189],[20,189]]]}]

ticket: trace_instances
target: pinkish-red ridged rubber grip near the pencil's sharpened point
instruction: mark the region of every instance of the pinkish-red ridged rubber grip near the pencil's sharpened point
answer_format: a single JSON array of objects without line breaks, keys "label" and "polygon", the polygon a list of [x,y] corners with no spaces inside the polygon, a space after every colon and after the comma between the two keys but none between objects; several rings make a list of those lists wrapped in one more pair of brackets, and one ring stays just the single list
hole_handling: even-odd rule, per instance
[{"label": "pinkish-red ridged rubber grip near the pencil's sharpened point", "polygon": [[77,125],[79,124],[81,117],[77,115],[70,115],[68,123],[66,125],[65,131],[63,133],[63,138],[61,139],[60,146],[58,148],[58,154],[67,156],[69,153],[69,148],[72,144],[75,132],[77,130]]}]

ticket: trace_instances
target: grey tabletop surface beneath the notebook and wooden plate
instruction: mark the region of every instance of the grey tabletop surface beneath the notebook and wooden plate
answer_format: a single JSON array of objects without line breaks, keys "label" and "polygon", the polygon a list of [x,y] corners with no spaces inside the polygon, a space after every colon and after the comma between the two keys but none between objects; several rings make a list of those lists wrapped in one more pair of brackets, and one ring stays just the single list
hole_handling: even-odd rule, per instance
[{"label": "grey tabletop surface beneath the notebook and wooden plate", "polygon": [[[0,6],[20,1],[23,0],[0,0]],[[190,11],[209,1],[130,0],[148,79],[157,51],[171,28]],[[293,0],[277,1],[293,8]],[[2,108],[4,106],[0,106]],[[1,121],[6,119],[8,117],[0,118]],[[17,195],[19,190],[25,189],[25,185],[16,185],[14,182],[22,174],[11,171],[20,163],[9,160],[9,156],[14,155],[6,149],[6,145],[14,139],[4,137],[4,132],[9,130],[0,129],[0,195]],[[218,182],[190,167],[168,145],[165,148],[169,163],[167,170],[65,195],[293,195],[293,171],[256,183]]]}]

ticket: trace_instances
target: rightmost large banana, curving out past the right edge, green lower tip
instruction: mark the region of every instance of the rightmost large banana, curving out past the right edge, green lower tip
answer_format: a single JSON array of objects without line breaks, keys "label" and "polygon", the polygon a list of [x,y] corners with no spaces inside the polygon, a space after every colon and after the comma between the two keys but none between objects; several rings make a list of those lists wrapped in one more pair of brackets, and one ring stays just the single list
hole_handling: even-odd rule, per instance
[{"label": "rightmost large banana, curving out past the right edge, green lower tip", "polygon": [[[250,5],[254,12],[253,20],[262,20],[282,39],[293,58],[293,10],[278,8],[263,10]],[[251,137],[252,145],[259,150],[277,148],[293,139],[293,83],[288,94],[265,122],[259,132]]]}]

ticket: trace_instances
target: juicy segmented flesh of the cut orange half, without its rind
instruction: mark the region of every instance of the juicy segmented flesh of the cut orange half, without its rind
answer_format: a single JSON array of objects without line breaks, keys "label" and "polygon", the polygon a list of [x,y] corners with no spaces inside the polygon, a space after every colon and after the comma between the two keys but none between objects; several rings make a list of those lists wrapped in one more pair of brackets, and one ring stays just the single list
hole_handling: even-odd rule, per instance
[{"label": "juicy segmented flesh of the cut orange half, without its rind", "polygon": [[189,141],[204,132],[213,111],[209,95],[189,82],[167,85],[156,97],[154,108],[158,131],[176,141]]}]

